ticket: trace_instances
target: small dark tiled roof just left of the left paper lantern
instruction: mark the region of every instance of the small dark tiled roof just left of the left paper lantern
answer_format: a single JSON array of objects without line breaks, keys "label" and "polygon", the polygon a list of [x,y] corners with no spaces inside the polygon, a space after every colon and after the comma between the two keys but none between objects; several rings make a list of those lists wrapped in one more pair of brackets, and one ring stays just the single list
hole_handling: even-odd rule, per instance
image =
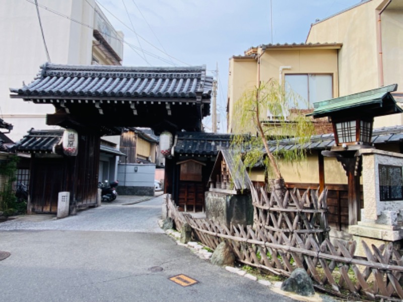
[{"label": "small dark tiled roof just left of the left paper lantern", "polygon": [[20,141],[17,141],[18,152],[24,153],[51,153],[53,146],[57,145],[62,136],[63,129],[57,130],[35,130],[31,129]]}]

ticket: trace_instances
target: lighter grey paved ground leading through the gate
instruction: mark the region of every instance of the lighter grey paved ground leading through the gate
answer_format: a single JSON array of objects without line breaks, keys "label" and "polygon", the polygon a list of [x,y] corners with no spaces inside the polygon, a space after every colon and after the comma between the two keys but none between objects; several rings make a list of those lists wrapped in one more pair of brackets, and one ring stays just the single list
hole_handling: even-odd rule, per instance
[{"label": "lighter grey paved ground leading through the gate", "polygon": [[0,223],[0,230],[60,230],[163,233],[158,225],[163,197],[119,196],[75,216],[26,215]]}]

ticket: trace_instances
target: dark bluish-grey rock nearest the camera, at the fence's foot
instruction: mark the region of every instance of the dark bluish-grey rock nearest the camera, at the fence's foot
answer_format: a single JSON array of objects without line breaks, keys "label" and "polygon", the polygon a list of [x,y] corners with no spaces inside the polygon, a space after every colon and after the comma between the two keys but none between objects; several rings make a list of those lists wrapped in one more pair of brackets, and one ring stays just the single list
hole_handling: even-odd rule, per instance
[{"label": "dark bluish-grey rock nearest the camera, at the fence's foot", "polygon": [[297,268],[291,273],[290,278],[285,280],[281,285],[284,291],[291,291],[303,296],[310,296],[315,294],[313,289],[312,279],[308,273],[302,269]]}]

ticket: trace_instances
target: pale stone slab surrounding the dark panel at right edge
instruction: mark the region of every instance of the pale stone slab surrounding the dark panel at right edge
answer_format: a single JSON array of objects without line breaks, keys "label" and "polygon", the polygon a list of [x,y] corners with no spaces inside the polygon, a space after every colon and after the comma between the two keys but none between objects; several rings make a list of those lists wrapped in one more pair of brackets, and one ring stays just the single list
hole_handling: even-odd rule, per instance
[{"label": "pale stone slab surrounding the dark panel at right edge", "polygon": [[403,200],[380,201],[378,165],[403,167],[403,155],[374,150],[374,153],[363,154],[363,191],[365,219],[376,220],[382,211],[403,209]]}]

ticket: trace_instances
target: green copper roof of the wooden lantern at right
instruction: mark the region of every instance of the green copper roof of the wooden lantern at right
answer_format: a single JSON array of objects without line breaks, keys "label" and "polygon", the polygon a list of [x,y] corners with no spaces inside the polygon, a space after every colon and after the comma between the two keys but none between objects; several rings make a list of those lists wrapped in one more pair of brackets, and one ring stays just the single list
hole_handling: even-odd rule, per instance
[{"label": "green copper roof of the wooden lantern at right", "polygon": [[315,118],[335,114],[382,116],[402,113],[390,92],[396,91],[397,84],[356,93],[336,99],[314,103],[314,110],[307,116]]}]

